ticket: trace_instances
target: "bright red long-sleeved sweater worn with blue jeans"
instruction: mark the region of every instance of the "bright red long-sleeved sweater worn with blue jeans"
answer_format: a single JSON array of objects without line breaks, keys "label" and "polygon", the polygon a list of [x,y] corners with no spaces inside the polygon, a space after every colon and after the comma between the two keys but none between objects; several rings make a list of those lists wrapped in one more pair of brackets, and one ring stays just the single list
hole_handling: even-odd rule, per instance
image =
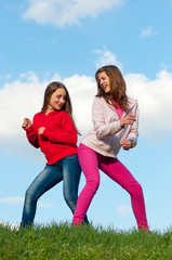
[{"label": "bright red long-sleeved sweater worn with blue jeans", "polygon": [[[38,129],[45,130],[40,135]],[[38,113],[34,116],[32,125],[26,128],[26,135],[31,145],[44,154],[48,162],[53,165],[57,160],[78,153],[77,131],[69,117],[64,110],[54,110],[45,115]]]}]

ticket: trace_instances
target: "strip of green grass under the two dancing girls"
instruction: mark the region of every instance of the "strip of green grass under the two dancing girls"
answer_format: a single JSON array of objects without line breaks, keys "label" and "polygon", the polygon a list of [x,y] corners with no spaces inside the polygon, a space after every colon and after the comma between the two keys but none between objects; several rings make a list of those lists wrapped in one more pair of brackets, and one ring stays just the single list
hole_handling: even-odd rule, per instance
[{"label": "strip of green grass under the two dancing girls", "polygon": [[68,223],[16,230],[0,225],[0,259],[100,260],[172,259],[172,229],[159,232],[117,232]]}]

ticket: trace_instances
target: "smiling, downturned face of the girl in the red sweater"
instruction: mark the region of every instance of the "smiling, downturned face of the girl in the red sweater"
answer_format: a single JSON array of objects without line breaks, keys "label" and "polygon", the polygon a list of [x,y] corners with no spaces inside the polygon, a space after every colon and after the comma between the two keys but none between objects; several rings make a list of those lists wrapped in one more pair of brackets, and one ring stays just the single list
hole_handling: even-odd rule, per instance
[{"label": "smiling, downturned face of the girl in the red sweater", "polygon": [[55,90],[49,101],[47,114],[53,110],[61,110],[66,103],[66,90],[59,88]]}]

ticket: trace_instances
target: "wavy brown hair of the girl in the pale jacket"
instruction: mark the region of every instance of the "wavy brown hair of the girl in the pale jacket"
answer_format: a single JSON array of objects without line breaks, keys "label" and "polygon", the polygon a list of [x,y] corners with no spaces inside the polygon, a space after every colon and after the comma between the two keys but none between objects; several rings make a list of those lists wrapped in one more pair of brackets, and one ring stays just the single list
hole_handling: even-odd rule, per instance
[{"label": "wavy brown hair of the girl in the pale jacket", "polygon": [[[110,93],[106,93],[100,86],[98,74],[103,72],[105,72],[106,75],[109,77]],[[113,103],[113,105],[115,106],[116,106],[115,101],[118,101],[120,107],[123,108],[124,112],[129,110],[129,102],[125,94],[127,91],[125,81],[117,66],[107,65],[98,68],[95,73],[95,79],[97,83],[96,96],[103,96],[108,104]]]}]

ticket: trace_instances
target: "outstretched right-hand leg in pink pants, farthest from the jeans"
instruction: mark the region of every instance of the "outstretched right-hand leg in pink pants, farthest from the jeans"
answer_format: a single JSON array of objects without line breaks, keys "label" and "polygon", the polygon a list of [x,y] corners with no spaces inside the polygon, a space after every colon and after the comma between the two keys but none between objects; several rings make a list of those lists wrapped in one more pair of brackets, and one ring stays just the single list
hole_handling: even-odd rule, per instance
[{"label": "outstretched right-hand leg in pink pants, farthest from the jeans", "polygon": [[118,159],[105,158],[100,162],[100,168],[130,194],[138,230],[147,231],[145,202],[140,183]]}]

